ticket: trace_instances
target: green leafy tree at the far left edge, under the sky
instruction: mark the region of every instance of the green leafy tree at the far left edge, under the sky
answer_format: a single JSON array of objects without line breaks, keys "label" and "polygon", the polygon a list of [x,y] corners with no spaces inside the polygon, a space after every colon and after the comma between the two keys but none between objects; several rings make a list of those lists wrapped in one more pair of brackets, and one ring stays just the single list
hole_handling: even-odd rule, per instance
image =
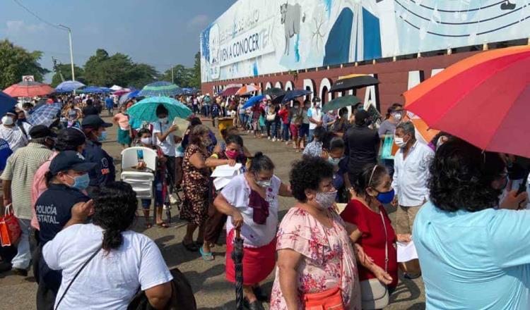
[{"label": "green leafy tree at the far left edge, under the sky", "polygon": [[7,39],[0,41],[0,89],[5,89],[22,80],[22,75],[34,75],[42,81],[49,70],[40,66],[42,51],[26,51]]}]

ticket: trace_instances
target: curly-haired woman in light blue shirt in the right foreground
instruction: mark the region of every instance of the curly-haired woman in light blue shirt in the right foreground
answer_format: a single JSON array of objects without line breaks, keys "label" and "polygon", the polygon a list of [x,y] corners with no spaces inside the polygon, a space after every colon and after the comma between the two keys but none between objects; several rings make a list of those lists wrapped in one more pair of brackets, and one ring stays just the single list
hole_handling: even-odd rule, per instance
[{"label": "curly-haired woman in light blue shirt in the right foreground", "polygon": [[427,309],[530,309],[530,211],[517,211],[517,191],[496,209],[507,184],[499,154],[450,140],[430,173],[413,228]]}]

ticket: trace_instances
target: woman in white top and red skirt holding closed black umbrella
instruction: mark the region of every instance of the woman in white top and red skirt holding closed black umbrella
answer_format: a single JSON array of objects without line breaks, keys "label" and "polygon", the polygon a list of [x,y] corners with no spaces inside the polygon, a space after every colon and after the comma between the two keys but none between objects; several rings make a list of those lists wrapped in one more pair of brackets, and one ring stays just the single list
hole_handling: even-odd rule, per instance
[{"label": "woman in white top and red skirt holding closed black umbrella", "polygon": [[[278,196],[291,197],[287,185],[274,175],[274,164],[261,152],[250,163],[249,171],[235,176],[216,197],[213,204],[229,216],[226,222],[226,278],[241,281],[248,309],[264,309],[266,300],[259,283],[271,273],[275,264]],[[234,247],[235,230],[240,230],[243,243],[243,278],[235,277],[230,253]]]}]

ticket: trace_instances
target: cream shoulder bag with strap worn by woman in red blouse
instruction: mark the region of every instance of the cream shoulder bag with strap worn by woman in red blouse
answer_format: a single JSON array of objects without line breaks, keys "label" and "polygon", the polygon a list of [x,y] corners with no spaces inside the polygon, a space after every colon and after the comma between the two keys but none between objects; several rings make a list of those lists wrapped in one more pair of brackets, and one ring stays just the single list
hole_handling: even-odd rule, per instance
[{"label": "cream shoulder bag with strap worn by woman in red blouse", "polygon": [[[388,272],[388,235],[387,224],[384,223],[383,212],[379,210],[384,228],[384,272]],[[360,282],[360,293],[363,310],[383,309],[389,304],[389,292],[377,278]]]}]

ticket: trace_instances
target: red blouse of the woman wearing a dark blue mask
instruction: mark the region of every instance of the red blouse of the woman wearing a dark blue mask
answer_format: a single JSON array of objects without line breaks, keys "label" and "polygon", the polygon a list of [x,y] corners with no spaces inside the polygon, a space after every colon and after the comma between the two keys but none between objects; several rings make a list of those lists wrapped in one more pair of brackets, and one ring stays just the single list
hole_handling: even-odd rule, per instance
[{"label": "red blouse of the woman wearing a dark blue mask", "polygon": [[[392,277],[390,287],[396,287],[398,281],[397,275],[397,251],[394,247],[396,233],[392,228],[390,218],[383,206],[379,206],[384,217],[384,223],[387,225],[387,242],[388,242],[388,273]],[[367,256],[372,257],[377,266],[384,269],[384,226],[381,215],[375,213],[362,202],[352,199],[346,209],[341,213],[341,218],[348,223],[355,224],[363,235],[357,240],[357,243],[363,247]],[[368,280],[375,276],[363,266],[359,265],[359,280]]]}]

